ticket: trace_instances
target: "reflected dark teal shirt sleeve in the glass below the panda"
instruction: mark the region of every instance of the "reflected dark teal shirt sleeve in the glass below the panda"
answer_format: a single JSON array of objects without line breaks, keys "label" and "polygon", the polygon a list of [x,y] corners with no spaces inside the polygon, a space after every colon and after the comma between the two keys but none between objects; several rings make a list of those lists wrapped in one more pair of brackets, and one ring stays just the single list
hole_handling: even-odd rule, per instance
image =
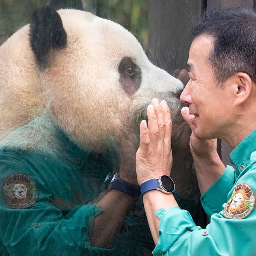
[{"label": "reflected dark teal shirt sleeve in the glass below the panda", "polygon": [[[27,208],[10,207],[3,195],[7,177],[17,173],[30,177],[38,189],[37,201]],[[113,249],[90,246],[93,218],[101,207],[76,206],[64,218],[33,166],[5,157],[0,160],[0,174],[0,242],[10,255],[113,255]]]}]

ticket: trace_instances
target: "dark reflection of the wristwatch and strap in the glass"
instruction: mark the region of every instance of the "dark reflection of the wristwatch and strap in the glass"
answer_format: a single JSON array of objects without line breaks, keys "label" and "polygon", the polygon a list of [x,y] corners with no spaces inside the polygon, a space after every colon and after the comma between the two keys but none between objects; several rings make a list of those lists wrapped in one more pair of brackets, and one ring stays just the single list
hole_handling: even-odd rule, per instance
[{"label": "dark reflection of the wristwatch and strap in the glass", "polygon": [[109,191],[113,188],[118,189],[133,198],[135,198],[136,196],[139,196],[140,194],[139,186],[132,185],[131,183],[122,180],[119,177],[118,173],[114,174],[112,180],[109,183],[109,186],[108,186]]}]

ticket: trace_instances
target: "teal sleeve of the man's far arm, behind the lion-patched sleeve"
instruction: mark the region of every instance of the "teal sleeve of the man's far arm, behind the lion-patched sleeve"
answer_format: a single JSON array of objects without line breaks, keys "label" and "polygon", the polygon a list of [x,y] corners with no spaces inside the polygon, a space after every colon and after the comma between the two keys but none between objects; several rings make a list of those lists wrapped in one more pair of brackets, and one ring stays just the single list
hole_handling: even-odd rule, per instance
[{"label": "teal sleeve of the man's far arm, behind the lion-patched sleeve", "polygon": [[232,166],[227,165],[222,176],[201,196],[202,206],[209,218],[220,212],[222,205],[227,202],[227,194],[234,185],[234,171]]}]

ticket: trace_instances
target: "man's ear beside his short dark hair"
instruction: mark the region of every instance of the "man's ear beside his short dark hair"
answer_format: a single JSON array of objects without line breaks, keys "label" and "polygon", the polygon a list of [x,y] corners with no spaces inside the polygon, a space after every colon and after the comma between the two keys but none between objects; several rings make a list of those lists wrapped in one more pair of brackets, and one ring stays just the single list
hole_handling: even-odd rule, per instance
[{"label": "man's ear beside his short dark hair", "polygon": [[250,96],[252,92],[253,81],[250,76],[244,72],[239,72],[234,76],[236,79],[236,86],[234,87],[236,105],[240,105]]}]

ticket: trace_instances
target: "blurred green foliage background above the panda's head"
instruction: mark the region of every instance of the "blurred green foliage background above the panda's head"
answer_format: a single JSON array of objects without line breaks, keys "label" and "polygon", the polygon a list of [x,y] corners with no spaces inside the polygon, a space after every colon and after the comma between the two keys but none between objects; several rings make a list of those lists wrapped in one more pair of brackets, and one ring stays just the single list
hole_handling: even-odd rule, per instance
[{"label": "blurred green foliage background above the panda's head", "polygon": [[111,19],[131,31],[148,49],[147,0],[0,0],[0,44],[29,23],[32,12],[45,4],[58,9],[76,7]]}]

